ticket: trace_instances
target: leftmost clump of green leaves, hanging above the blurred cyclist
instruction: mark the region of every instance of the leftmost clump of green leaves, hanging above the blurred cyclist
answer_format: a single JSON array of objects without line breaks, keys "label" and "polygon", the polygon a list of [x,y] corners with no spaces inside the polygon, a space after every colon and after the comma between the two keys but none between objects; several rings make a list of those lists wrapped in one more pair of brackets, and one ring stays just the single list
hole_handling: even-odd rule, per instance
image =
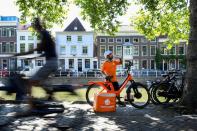
[{"label": "leftmost clump of green leaves, hanging above the blurred cyclist", "polygon": [[68,10],[68,2],[64,0],[16,0],[21,13],[20,20],[25,23],[34,17],[40,17],[48,28],[55,23],[62,24]]}]

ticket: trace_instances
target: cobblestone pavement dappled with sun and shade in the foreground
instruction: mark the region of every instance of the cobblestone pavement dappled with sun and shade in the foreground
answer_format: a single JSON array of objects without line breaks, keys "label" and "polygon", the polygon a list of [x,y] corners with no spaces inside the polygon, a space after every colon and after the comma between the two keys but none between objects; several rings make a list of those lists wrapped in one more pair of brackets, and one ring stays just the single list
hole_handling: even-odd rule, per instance
[{"label": "cobblestone pavement dappled with sun and shade in the foreground", "polygon": [[61,130],[130,130],[130,131],[195,131],[197,115],[180,115],[172,109],[148,105],[145,109],[117,107],[113,113],[94,113],[87,104],[64,103],[60,114],[42,117],[14,118],[14,112],[26,110],[25,105],[0,106],[1,131],[61,131]]}]

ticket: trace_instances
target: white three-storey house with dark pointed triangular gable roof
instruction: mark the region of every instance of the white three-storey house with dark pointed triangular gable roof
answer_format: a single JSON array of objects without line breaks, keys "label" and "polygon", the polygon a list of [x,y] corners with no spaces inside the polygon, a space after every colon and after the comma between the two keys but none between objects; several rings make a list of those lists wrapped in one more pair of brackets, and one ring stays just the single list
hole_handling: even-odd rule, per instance
[{"label": "white three-storey house with dark pointed triangular gable roof", "polygon": [[59,68],[63,71],[83,72],[98,68],[93,54],[94,33],[85,31],[78,18],[63,32],[56,32],[56,48]]}]

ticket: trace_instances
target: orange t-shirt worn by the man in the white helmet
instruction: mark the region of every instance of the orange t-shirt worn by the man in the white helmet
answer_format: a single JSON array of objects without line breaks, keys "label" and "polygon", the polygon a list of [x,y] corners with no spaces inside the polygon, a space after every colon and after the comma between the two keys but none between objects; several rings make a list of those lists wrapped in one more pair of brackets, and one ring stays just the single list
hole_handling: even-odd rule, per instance
[{"label": "orange t-shirt worn by the man in the white helmet", "polygon": [[101,67],[101,71],[105,72],[108,76],[113,76],[111,79],[112,82],[116,82],[116,66],[120,65],[120,61],[105,61]]}]

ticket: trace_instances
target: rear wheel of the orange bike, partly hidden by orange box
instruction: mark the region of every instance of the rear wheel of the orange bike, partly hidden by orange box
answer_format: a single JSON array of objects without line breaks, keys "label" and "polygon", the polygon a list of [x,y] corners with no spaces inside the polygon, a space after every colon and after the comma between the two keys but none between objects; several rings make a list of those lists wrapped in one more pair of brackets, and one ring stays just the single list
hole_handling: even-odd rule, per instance
[{"label": "rear wheel of the orange bike, partly hidden by orange box", "polygon": [[88,86],[87,91],[86,91],[86,101],[89,105],[93,106],[94,102],[94,95],[96,93],[99,93],[103,90],[103,88],[100,85],[97,84],[92,84]]}]

